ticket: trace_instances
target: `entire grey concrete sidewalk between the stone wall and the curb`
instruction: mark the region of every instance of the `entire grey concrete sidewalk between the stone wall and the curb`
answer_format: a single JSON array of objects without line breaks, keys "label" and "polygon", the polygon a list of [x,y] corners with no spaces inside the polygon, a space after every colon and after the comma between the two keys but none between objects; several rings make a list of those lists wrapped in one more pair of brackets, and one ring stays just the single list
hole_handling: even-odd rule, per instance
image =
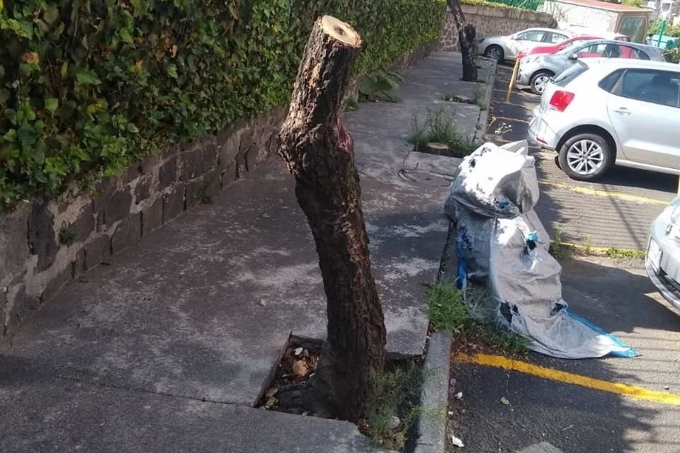
[{"label": "entire grey concrete sidewalk between the stone wall and the curb", "polygon": [[[475,134],[482,84],[460,55],[404,74],[402,103],[363,104],[355,139],[387,350],[421,355],[425,287],[438,270],[442,205],[457,159],[410,152],[414,114],[434,103]],[[368,452],[356,427],[251,408],[290,333],[324,338],[317,255],[274,159],[72,282],[0,345],[0,451]]]}]

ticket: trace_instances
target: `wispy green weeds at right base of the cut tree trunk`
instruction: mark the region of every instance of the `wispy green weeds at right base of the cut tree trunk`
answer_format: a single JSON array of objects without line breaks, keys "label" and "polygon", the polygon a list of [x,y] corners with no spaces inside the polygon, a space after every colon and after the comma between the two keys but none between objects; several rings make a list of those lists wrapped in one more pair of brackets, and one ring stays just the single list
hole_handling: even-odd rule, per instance
[{"label": "wispy green weeds at right base of the cut tree trunk", "polygon": [[[426,413],[417,403],[429,374],[429,370],[422,369],[415,362],[406,362],[395,363],[385,372],[371,375],[363,431],[375,445],[403,449],[416,418],[443,416],[443,409],[441,414]],[[395,416],[399,418],[397,426],[392,422]]]}]

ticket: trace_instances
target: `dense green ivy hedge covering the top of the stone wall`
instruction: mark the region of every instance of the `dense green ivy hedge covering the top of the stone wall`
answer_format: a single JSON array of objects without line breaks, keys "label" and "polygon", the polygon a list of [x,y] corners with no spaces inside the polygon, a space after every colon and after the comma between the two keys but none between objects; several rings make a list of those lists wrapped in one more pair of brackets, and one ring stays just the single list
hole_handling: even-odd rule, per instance
[{"label": "dense green ivy hedge covering the top of the stone wall", "polygon": [[83,190],[285,105],[314,18],[358,73],[441,35],[444,0],[0,0],[0,211]]}]

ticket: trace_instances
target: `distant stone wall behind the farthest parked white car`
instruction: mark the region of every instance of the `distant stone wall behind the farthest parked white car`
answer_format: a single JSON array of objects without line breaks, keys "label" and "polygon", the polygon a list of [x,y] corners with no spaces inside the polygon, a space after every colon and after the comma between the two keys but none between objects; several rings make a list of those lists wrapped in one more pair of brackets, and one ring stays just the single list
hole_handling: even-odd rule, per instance
[{"label": "distant stone wall behind the farthest parked white car", "polygon": [[[517,8],[494,8],[492,6],[461,5],[465,19],[477,30],[477,38],[486,36],[511,35],[525,28],[548,27],[557,25],[555,18],[548,13],[536,13]],[[444,33],[439,40],[441,50],[458,51],[458,30],[455,29],[450,11],[446,14]]]}]

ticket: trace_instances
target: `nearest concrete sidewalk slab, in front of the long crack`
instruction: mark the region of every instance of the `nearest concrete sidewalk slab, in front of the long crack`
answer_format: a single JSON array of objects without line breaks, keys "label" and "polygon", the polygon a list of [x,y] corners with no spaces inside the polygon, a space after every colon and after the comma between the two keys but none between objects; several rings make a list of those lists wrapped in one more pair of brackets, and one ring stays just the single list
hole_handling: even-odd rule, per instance
[{"label": "nearest concrete sidewalk slab, in front of the long crack", "polygon": [[1,452],[378,451],[348,422],[68,379],[2,382],[0,407]]}]

